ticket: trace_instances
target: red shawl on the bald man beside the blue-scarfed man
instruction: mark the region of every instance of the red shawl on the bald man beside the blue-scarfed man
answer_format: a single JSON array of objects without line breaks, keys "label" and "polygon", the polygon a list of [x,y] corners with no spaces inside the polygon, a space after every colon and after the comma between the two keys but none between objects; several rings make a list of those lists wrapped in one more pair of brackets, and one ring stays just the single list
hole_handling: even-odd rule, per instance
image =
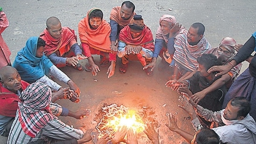
[{"label": "red shawl on the bald man beside the blue-scarfed man", "polygon": [[65,53],[69,52],[71,46],[74,44],[69,44],[69,42],[77,39],[75,31],[69,27],[62,27],[62,36],[57,40],[53,38],[46,29],[40,34],[40,37],[46,43],[44,48],[44,54],[46,56],[49,56],[56,51],[60,52],[60,55],[58,56],[64,55]]}]

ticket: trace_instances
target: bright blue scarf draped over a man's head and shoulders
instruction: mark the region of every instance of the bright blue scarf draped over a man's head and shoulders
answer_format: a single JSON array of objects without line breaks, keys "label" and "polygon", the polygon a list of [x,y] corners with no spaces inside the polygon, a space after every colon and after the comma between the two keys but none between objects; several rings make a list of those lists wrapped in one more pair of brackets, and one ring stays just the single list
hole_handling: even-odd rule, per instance
[{"label": "bright blue scarf draped over a man's head and shoulders", "polygon": [[21,79],[26,82],[35,82],[44,75],[48,75],[53,63],[43,55],[36,57],[38,37],[30,37],[26,46],[22,48],[15,57],[13,67],[21,75]]}]

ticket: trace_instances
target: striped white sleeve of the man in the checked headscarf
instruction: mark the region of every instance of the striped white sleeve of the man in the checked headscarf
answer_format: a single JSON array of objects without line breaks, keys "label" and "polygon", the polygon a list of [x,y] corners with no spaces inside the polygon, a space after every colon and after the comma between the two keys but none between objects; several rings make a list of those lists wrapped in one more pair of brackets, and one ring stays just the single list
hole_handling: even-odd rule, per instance
[{"label": "striped white sleeve of the man in the checked headscarf", "polygon": [[47,123],[42,134],[59,140],[81,139],[83,137],[82,130],[74,129],[63,123],[60,119],[54,119]]}]

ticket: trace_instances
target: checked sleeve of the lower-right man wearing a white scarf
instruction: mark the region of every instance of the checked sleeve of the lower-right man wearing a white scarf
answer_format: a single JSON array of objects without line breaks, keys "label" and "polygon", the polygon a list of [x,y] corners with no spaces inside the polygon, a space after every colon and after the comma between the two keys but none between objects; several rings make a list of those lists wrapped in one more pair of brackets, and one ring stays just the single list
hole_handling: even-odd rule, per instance
[{"label": "checked sleeve of the lower-right man wearing a white scarf", "polygon": [[208,122],[214,122],[214,123],[221,123],[221,111],[211,111],[208,109],[204,109],[200,105],[197,105],[197,108],[195,109],[195,112],[200,117],[204,118]]}]

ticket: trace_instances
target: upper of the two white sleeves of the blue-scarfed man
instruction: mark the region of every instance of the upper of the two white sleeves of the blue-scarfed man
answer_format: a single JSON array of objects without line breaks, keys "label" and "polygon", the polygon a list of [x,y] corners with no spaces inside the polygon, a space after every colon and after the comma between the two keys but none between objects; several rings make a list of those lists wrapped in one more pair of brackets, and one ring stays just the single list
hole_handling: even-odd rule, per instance
[{"label": "upper of the two white sleeves of the blue-scarfed man", "polygon": [[55,78],[57,78],[59,81],[64,82],[66,84],[71,80],[65,73],[63,73],[55,65],[51,66],[49,73],[50,75],[53,75]]}]

